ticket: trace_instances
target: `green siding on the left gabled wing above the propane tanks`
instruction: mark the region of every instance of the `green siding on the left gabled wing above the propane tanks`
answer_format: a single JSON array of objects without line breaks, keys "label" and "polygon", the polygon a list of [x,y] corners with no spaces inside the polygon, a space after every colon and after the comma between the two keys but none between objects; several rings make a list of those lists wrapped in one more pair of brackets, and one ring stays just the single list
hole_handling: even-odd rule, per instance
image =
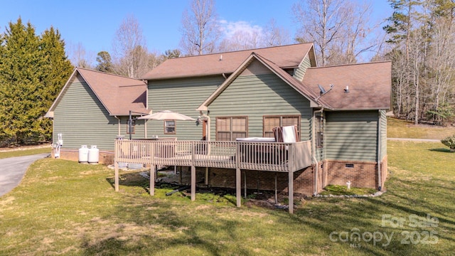
[{"label": "green siding on the left gabled wing above the propane tanks", "polygon": [[[125,120],[127,117],[123,117]],[[134,138],[144,136],[144,127],[137,122]],[[126,125],[126,124],[125,124]],[[126,127],[121,134],[126,134]],[[142,132],[141,132],[142,131]],[[82,78],[72,82],[54,111],[53,142],[62,134],[62,149],[79,149],[81,145],[96,145],[100,150],[114,149],[118,135],[118,119],[97,99]]]}]

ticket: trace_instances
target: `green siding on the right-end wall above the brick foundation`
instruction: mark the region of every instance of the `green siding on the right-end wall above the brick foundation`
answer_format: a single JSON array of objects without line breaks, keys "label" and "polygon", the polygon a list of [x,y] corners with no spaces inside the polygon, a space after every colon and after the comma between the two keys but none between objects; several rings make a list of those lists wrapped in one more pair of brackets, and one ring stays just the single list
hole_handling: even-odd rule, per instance
[{"label": "green siding on the right-end wall above the brick foundation", "polygon": [[376,161],[378,112],[326,112],[326,159]]}]

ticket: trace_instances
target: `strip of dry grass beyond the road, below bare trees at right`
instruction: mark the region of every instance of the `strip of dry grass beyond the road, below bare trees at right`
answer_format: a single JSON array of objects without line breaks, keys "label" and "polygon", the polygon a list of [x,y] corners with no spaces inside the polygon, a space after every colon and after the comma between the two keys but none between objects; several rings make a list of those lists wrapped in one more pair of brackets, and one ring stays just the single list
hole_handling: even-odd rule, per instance
[{"label": "strip of dry grass beyond the road, below bare trees at right", "polygon": [[414,125],[393,117],[387,118],[388,138],[444,139],[455,134],[455,127],[438,127],[433,125]]}]

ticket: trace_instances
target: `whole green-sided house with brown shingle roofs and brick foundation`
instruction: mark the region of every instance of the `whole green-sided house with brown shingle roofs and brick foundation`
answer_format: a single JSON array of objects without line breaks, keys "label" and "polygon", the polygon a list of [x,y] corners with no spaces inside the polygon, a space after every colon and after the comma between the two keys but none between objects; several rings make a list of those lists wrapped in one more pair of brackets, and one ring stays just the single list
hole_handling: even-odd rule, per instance
[{"label": "whole green-sided house with brown shingle roofs and brick foundation", "polygon": [[[60,157],[75,159],[80,145],[96,144],[101,158],[112,161],[114,139],[129,135],[129,110],[136,116],[173,110],[197,121],[138,119],[132,139],[234,142],[274,137],[274,127],[296,126],[299,140],[311,145],[311,164],[289,175],[242,169],[239,178],[238,166],[235,172],[192,166],[191,174],[208,186],[238,189],[241,181],[248,189],[304,195],[348,181],[384,188],[390,62],[317,67],[313,44],[301,43],[172,58],[142,79],[76,68],[48,112],[53,139],[63,136]],[[293,161],[299,159],[295,152]]]}]

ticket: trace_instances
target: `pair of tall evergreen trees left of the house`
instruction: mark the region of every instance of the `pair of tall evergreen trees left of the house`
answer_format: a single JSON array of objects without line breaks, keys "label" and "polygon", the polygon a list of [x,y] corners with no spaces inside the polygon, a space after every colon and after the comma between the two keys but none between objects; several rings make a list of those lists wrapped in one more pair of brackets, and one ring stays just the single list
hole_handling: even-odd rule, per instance
[{"label": "pair of tall evergreen trees left of the house", "polygon": [[18,144],[50,138],[44,119],[71,72],[60,33],[42,38],[31,23],[9,23],[0,41],[0,139]]}]

